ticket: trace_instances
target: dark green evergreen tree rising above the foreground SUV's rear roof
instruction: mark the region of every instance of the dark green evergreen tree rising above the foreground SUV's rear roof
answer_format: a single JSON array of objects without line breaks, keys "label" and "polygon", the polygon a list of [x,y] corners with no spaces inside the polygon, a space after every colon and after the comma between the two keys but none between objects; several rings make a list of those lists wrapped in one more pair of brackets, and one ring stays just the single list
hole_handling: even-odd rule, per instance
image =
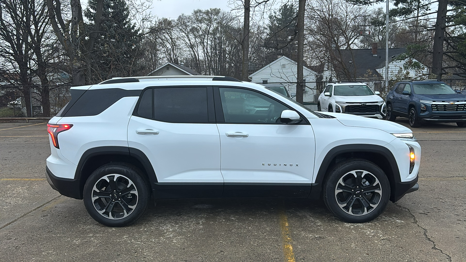
[{"label": "dark green evergreen tree rising above the foreground SUV's rear roof", "polygon": [[[97,0],[89,0],[84,16],[93,28]],[[142,55],[141,34],[136,24],[131,22],[125,0],[104,0],[101,33],[98,34],[92,62],[90,78],[99,82],[111,77],[135,76],[142,70],[138,60]]]}]

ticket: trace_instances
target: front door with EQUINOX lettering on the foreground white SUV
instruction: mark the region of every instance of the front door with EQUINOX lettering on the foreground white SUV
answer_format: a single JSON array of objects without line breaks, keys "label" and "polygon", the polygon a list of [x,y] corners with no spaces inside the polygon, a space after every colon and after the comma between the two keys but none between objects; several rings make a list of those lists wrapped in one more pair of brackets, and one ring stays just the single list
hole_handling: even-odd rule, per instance
[{"label": "front door with EQUINOX lettering on the foreground white SUV", "polygon": [[281,124],[272,97],[243,88],[214,88],[224,197],[307,197],[315,138],[306,119]]}]

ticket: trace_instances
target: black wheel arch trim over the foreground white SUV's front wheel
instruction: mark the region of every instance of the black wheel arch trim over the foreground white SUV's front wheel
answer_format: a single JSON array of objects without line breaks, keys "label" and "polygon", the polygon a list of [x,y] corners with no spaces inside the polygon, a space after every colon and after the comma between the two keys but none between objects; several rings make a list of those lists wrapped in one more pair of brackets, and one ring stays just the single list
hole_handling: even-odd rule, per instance
[{"label": "black wheel arch trim over the foreground white SUV's front wheel", "polygon": [[[311,193],[309,194],[309,198],[318,199],[321,196],[323,180],[327,175],[329,168],[332,165],[332,160],[335,159],[336,156],[343,154],[343,153],[378,153],[384,156],[391,167],[391,171],[393,173],[393,180],[395,185],[401,182],[400,172],[398,169],[398,164],[391,153],[391,151],[382,146],[382,145],[371,145],[371,144],[348,144],[348,145],[338,145],[327,152],[322,163],[319,167],[319,171],[317,172],[314,186],[312,187]],[[392,185],[391,185],[392,186]],[[394,192],[394,188],[391,189]]]}]

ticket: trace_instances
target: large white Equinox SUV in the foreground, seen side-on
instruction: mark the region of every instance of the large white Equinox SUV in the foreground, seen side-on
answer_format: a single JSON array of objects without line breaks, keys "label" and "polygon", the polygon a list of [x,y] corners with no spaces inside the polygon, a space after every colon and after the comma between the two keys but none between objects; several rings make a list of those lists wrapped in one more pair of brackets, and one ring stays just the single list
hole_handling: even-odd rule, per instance
[{"label": "large white Equinox SUV in the foreground, seen side-on", "polygon": [[71,89],[47,179],[112,227],[154,200],[323,198],[348,222],[418,189],[421,148],[388,121],[317,113],[231,77],[118,78]]}]

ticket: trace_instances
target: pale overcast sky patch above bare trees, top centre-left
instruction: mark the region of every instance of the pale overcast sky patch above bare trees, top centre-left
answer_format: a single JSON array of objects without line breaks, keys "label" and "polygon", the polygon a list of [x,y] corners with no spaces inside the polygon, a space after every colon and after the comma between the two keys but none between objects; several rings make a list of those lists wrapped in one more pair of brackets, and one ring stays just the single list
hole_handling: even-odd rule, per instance
[{"label": "pale overcast sky patch above bare trees, top centre-left", "polygon": [[154,0],[152,2],[152,14],[159,18],[178,18],[180,14],[191,14],[194,9],[220,8],[225,11],[228,0]]}]

